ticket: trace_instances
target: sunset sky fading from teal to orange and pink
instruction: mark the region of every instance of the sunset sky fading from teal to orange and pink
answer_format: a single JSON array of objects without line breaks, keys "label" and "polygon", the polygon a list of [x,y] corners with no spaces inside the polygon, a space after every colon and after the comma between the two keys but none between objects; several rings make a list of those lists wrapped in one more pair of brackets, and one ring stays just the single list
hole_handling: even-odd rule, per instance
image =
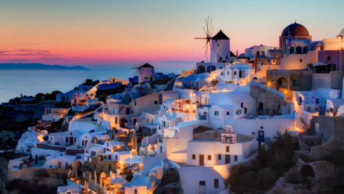
[{"label": "sunset sky fading from teal to orange and pink", "polygon": [[117,65],[204,60],[202,27],[231,50],[278,46],[294,20],[313,40],[344,27],[344,0],[0,0],[0,62]]}]

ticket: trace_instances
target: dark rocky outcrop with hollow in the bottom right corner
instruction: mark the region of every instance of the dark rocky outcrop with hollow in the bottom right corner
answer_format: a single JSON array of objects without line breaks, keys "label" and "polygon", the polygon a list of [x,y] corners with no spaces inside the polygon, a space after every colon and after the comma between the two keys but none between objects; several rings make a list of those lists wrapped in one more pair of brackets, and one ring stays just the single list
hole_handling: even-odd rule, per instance
[{"label": "dark rocky outcrop with hollow in the bottom right corner", "polygon": [[306,163],[301,159],[268,194],[315,194],[344,192],[344,168],[328,161]]}]

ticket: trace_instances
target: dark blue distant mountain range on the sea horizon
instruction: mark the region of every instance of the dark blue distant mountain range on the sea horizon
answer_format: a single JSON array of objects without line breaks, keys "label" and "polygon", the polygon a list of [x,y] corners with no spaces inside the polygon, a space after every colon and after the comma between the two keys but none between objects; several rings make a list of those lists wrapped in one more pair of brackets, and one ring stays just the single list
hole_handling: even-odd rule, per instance
[{"label": "dark blue distant mountain range on the sea horizon", "polygon": [[82,66],[45,65],[41,63],[0,63],[0,70],[89,70]]}]

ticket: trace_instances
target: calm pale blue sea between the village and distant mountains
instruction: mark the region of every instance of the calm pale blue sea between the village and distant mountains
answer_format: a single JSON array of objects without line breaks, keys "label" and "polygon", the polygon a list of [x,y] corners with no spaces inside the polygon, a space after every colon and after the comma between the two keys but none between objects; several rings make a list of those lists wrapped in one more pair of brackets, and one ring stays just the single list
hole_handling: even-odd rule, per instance
[{"label": "calm pale blue sea between the village and distant mountains", "polygon": [[[155,72],[180,74],[183,67],[155,69]],[[131,67],[113,70],[0,70],[0,103],[14,97],[35,96],[53,91],[68,92],[84,83],[86,79],[107,80],[111,77],[128,80],[135,71]]]}]

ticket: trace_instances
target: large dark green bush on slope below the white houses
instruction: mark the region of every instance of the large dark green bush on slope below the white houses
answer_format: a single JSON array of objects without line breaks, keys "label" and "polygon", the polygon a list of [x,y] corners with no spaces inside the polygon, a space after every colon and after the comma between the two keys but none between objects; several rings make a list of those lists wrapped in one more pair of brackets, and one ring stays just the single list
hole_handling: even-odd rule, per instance
[{"label": "large dark green bush on slope below the white houses", "polygon": [[228,183],[234,190],[236,187],[267,190],[274,186],[283,172],[295,165],[293,157],[296,149],[297,145],[292,143],[292,137],[287,131],[283,135],[278,132],[269,148],[260,149],[249,167],[235,167]]}]

